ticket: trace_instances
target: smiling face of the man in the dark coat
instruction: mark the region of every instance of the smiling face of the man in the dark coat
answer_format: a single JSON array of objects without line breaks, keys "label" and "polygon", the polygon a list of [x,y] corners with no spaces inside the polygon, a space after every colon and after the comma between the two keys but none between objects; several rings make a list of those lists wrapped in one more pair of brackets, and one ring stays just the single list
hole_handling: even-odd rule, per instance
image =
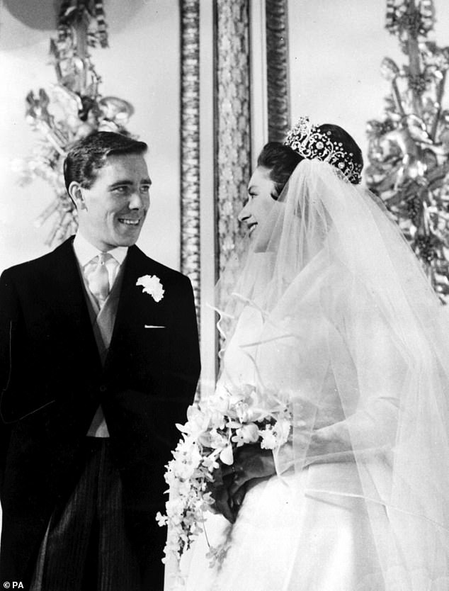
[{"label": "smiling face of the man in the dark coat", "polygon": [[142,154],[111,154],[91,188],[71,185],[79,232],[103,252],[132,246],[149,209],[150,185]]}]

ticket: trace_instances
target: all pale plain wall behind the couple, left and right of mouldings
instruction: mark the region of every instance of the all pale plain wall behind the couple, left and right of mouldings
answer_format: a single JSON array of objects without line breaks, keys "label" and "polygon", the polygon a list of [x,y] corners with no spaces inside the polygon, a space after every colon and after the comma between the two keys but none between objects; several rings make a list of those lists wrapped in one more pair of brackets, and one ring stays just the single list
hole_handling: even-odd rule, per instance
[{"label": "all pale plain wall behind the couple, left and right of mouldings", "polygon": [[[51,201],[50,188],[43,181],[18,186],[11,168],[14,159],[31,154],[37,139],[25,122],[25,95],[56,81],[48,55],[55,3],[38,4],[38,10],[33,0],[0,4],[0,270],[47,252],[50,227],[37,228],[34,220]],[[211,4],[200,0],[203,12]],[[449,3],[435,4],[435,38],[449,45]],[[178,268],[178,1],[106,0],[105,9],[110,48],[92,52],[101,92],[135,106],[129,128],[150,147],[152,208],[140,245]],[[404,62],[397,40],[384,28],[385,0],[289,0],[288,9],[292,120],[307,114],[317,123],[339,123],[365,151],[365,123],[380,115],[389,91],[380,62],[385,56]],[[211,53],[202,59],[212,60]],[[211,64],[203,72],[212,75]],[[202,85],[212,88],[209,80]],[[210,201],[210,191],[202,199]]]}]

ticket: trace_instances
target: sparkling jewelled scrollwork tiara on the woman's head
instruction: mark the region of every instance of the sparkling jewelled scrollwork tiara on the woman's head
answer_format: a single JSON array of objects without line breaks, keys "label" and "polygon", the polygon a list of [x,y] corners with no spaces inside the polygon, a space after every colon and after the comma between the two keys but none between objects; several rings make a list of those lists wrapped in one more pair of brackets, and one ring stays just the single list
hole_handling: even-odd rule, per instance
[{"label": "sparkling jewelled scrollwork tiara on the woman's head", "polygon": [[323,133],[317,125],[312,125],[308,117],[301,117],[292,128],[284,144],[290,146],[303,158],[329,162],[350,183],[358,184],[362,180],[362,164],[353,161],[354,154],[346,152],[341,142],[331,139],[331,132]]}]

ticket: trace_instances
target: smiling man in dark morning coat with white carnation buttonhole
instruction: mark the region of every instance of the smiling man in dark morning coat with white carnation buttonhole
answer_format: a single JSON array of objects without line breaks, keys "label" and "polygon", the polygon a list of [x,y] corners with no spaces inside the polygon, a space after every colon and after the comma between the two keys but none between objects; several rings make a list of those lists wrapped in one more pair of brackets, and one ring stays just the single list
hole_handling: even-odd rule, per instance
[{"label": "smiling man in dark morning coat with white carnation buttonhole", "polygon": [[147,145],[81,140],[79,230],[0,278],[0,585],[162,589],[164,466],[200,371],[190,281],[135,242]]}]

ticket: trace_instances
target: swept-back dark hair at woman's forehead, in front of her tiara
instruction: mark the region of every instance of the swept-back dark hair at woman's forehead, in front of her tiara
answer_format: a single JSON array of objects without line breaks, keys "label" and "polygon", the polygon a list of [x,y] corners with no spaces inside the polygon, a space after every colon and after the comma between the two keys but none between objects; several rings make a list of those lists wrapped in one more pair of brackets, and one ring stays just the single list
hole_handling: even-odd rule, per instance
[{"label": "swept-back dark hair at woman's forehead, in front of her tiara", "polygon": [[274,182],[276,191],[273,198],[277,199],[280,196],[285,184],[290,179],[290,175],[303,159],[291,147],[280,142],[268,142],[263,146],[261,153],[258,155],[257,166],[270,171],[270,179]]}]

